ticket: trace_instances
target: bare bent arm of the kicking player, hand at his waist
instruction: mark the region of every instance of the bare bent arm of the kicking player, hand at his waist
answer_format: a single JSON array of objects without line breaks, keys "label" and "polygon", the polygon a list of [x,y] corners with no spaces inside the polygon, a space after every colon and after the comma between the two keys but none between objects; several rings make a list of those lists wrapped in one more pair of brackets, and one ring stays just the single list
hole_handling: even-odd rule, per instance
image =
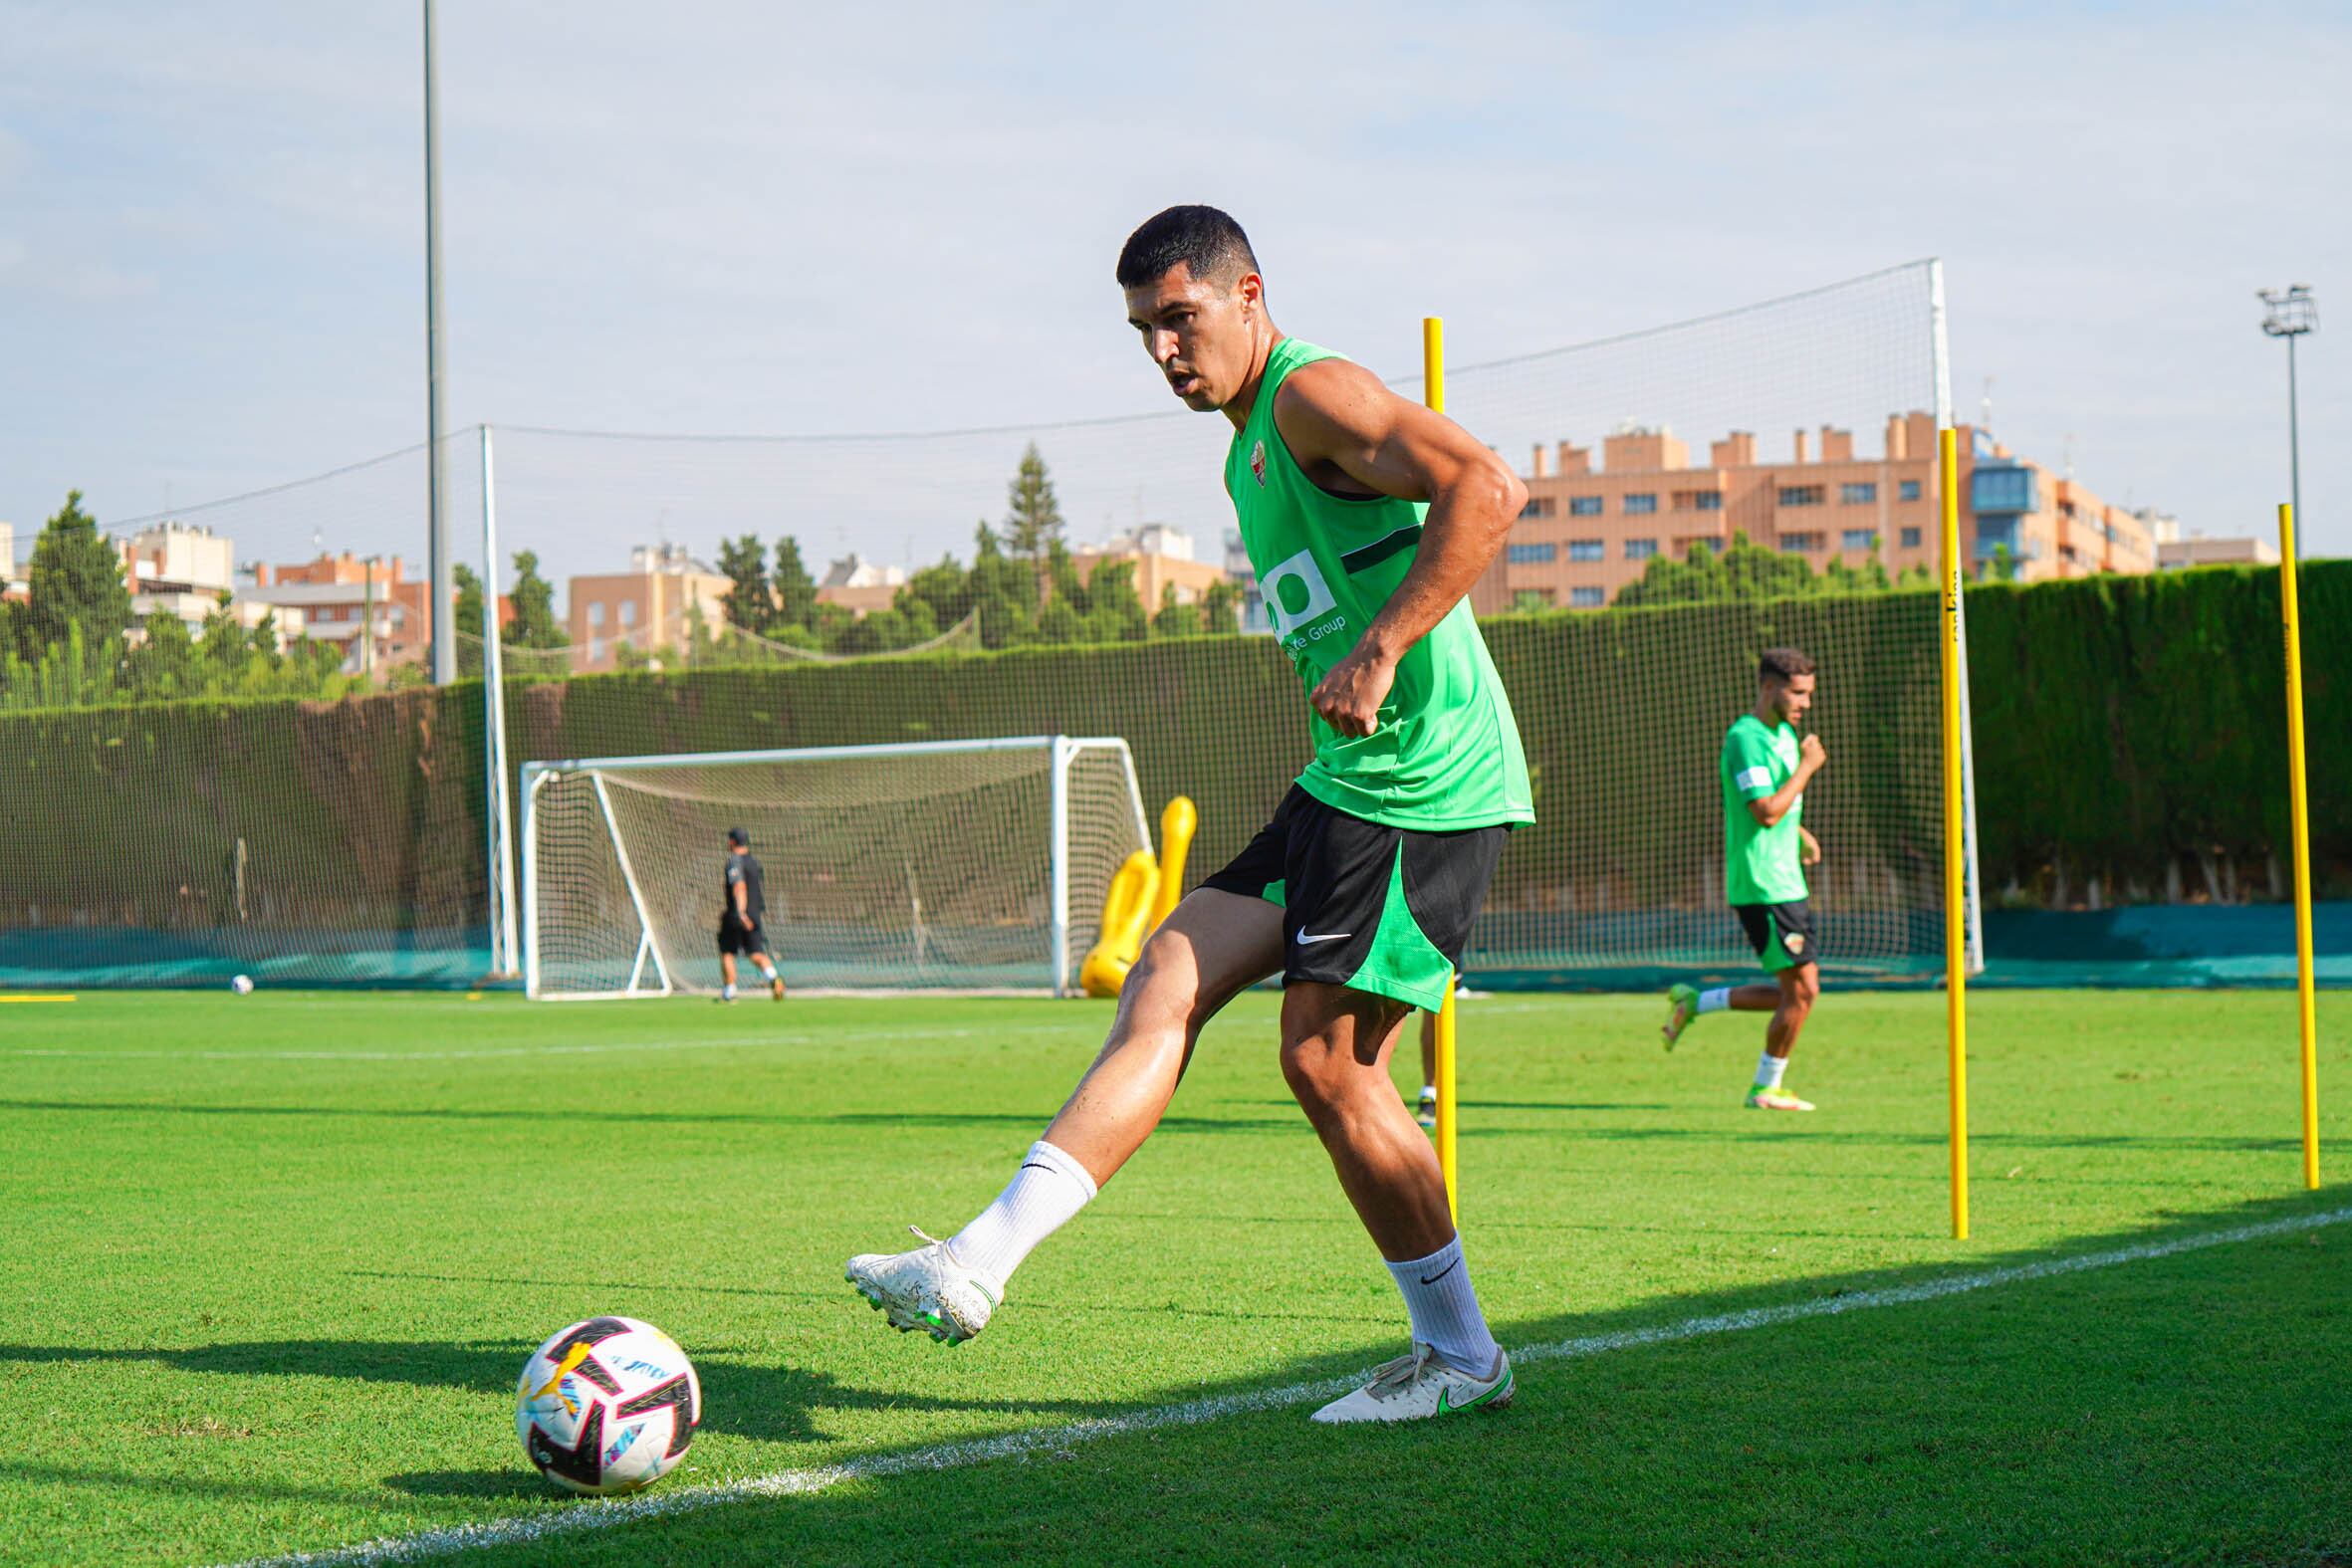
[{"label": "bare bent arm of the kicking player, hand at his waist", "polygon": [[1414,569],[1310,698],[1331,729],[1369,736],[1397,661],[1494,562],[1526,505],[1526,487],[1510,463],[1451,418],[1397,397],[1348,360],[1294,371],[1275,395],[1275,425],[1324,489],[1430,503]]}]

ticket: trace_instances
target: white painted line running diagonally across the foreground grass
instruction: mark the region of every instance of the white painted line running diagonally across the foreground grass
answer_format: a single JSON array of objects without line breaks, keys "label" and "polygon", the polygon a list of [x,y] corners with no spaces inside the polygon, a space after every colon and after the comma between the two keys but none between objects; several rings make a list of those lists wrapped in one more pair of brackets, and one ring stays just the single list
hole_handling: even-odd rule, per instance
[{"label": "white painted line running diagonally across the foreground grass", "polygon": [[[1724,1312],[1719,1316],[1693,1316],[1679,1324],[1658,1324],[1656,1328],[1625,1328],[1621,1333],[1595,1333],[1578,1340],[1555,1340],[1550,1345],[1522,1345],[1519,1349],[1510,1352],[1510,1356],[1517,1366],[1526,1366],[1534,1361],[1578,1361],[1583,1356],[1606,1356],[1618,1349],[1639,1349],[1644,1345],[1700,1340],[1717,1333],[1743,1333],[1748,1328],[1776,1328],[1780,1324],[1799,1324],[1804,1319],[1816,1319],[1816,1316],[1837,1316],[1842,1312],[1865,1312],[1872,1307],[1907,1307],[1912,1302],[1931,1302],[1945,1295],[1966,1295],[1969,1291],[1992,1291],[1997,1286],[2016,1286],[2032,1279],[2051,1279],[2058,1274],[2086,1274],[2091,1269],[2112,1269],[2124,1262],[2147,1262],[2150,1258],[2199,1253],[2209,1246],[2232,1246],[2237,1241],[2260,1241],[2265,1237],[2291,1237],[2296,1232],[2319,1229],[2324,1225],[2343,1225],[2345,1220],[2352,1220],[2352,1208],[2328,1208],[2324,1213],[2305,1213],[2286,1220],[2263,1220],[2258,1225],[2237,1225],[2230,1229],[2213,1229],[2197,1237],[2178,1237],[2173,1241],[2119,1246],[2107,1253],[2077,1253],[2074,1258],[2020,1262],[2006,1269],[1947,1274],[1943,1279],[1926,1279],[1915,1286],[1889,1286],[1884,1291],[1853,1291],[1849,1295],[1823,1295],[1816,1300],[1788,1302],[1780,1307],[1752,1307],[1748,1312]],[[1256,1410],[1282,1410],[1289,1406],[1319,1403],[1324,1399],[1336,1399],[1338,1394],[1352,1389],[1357,1385],[1357,1378],[1362,1378],[1362,1373],[1348,1378],[1324,1378],[1319,1382],[1291,1382],[1277,1389],[1256,1389],[1247,1394],[1221,1394],[1216,1399],[1195,1399],[1190,1403],[1160,1406],[1152,1410],[1136,1410],[1131,1415],[1075,1420],[1054,1427],[1030,1427],[1025,1432],[1007,1432],[1002,1436],[936,1443],[931,1448],[884,1453],[868,1460],[847,1460],[842,1465],[818,1465],[814,1469],[779,1469],[774,1474],[753,1476],[748,1481],[724,1481],[713,1486],[644,1493],[637,1497],[623,1497],[614,1502],[581,1502],[574,1507],[564,1507],[560,1512],[550,1509],[522,1519],[461,1523],[442,1530],[423,1530],[419,1535],[369,1540],[355,1547],[329,1547],[327,1552],[289,1552],[285,1556],[254,1559],[249,1563],[242,1563],[240,1568],[341,1568],[346,1563],[350,1566],[414,1563],[430,1556],[468,1552],[473,1547],[510,1547],[520,1542],[550,1540],[557,1535],[574,1535],[579,1530],[609,1530],[614,1526],[637,1523],[642,1519],[701,1514],[703,1509],[727,1507],[734,1502],[755,1502],[762,1497],[804,1497],[809,1493],[833,1490],[835,1486],[849,1481],[882,1481],[889,1476],[903,1476],[924,1469],[967,1469],[971,1465],[1016,1460],[1033,1453],[1063,1453],[1068,1448],[1075,1448],[1077,1443],[1094,1443],[1105,1436],[1155,1432],[1160,1427],[1197,1427],[1202,1422],[1228,1420],[1232,1415],[1249,1415]]]}]

